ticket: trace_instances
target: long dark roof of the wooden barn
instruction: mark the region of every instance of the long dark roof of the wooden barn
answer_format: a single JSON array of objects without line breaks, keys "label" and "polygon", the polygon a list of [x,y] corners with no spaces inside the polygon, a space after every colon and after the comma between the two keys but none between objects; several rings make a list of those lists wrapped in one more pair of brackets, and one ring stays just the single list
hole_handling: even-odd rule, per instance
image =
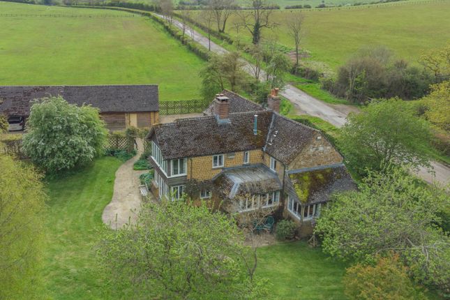
[{"label": "long dark roof of the wooden barn", "polygon": [[0,86],[0,113],[29,115],[31,101],[62,96],[68,103],[100,112],[156,112],[158,85]]}]

